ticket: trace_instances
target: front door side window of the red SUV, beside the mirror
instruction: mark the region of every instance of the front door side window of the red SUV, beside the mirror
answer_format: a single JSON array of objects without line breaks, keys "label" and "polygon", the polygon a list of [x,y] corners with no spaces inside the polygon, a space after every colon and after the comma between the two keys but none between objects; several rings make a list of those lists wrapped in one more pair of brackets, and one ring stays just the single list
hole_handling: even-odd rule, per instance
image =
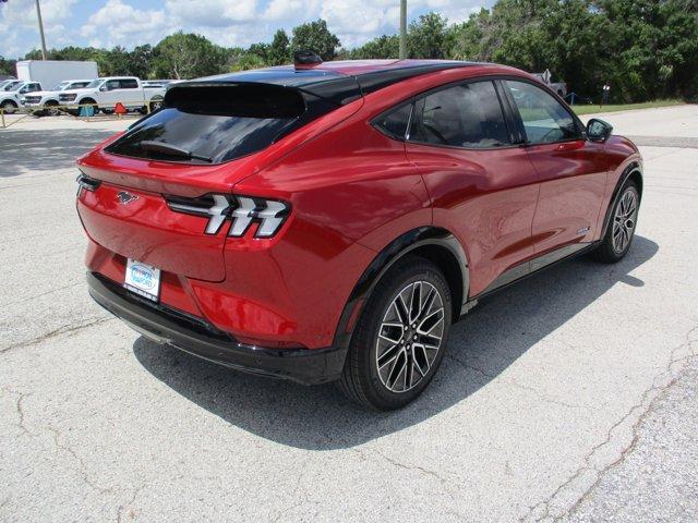
[{"label": "front door side window of the red SUV, beside the mirror", "polygon": [[550,144],[579,138],[569,112],[543,89],[526,82],[506,81],[531,144]]}]

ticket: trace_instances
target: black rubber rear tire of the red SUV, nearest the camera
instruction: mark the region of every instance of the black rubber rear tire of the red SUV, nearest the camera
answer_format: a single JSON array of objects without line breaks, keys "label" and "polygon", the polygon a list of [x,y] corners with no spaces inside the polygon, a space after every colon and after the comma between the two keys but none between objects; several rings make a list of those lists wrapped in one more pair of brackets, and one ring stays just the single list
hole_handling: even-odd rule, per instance
[{"label": "black rubber rear tire of the red SUV, nearest the camera", "polygon": [[[378,357],[376,356],[378,345],[382,343],[378,340],[378,331],[382,328],[386,328],[383,321],[387,315],[390,314],[390,311],[395,311],[397,313],[397,309],[393,309],[390,307],[394,307],[394,301],[398,300],[398,294],[400,294],[400,292],[409,293],[409,289],[417,287],[414,285],[416,283],[419,285],[420,292],[422,289],[425,290],[424,294],[421,294],[421,297],[424,300],[422,303],[426,303],[426,299],[431,296],[432,289],[438,293],[441,304],[443,305],[442,320],[440,320],[443,321],[443,326],[436,326],[437,329],[430,330],[430,332],[441,332],[441,343],[435,355],[429,352],[432,356],[428,356],[428,350],[423,344],[421,344],[425,342],[421,341],[421,338],[420,342],[410,341],[412,340],[412,335],[414,335],[413,339],[418,339],[417,337],[421,335],[416,333],[416,330],[404,332],[400,330],[400,327],[396,327],[397,332],[400,333],[399,336],[401,341],[399,343],[389,342],[388,346],[392,346],[393,349],[387,349],[382,352],[382,357],[390,351],[393,351],[392,354],[398,354],[395,357],[388,358],[389,361],[393,361],[394,358],[396,360],[393,368],[397,366],[397,361],[400,362],[400,365],[402,365],[404,362],[404,366],[400,366],[398,369],[396,375],[397,377],[393,385],[396,385],[396,382],[399,381],[399,377],[404,376],[402,381],[405,382],[406,390],[394,391],[390,390],[386,382],[384,382],[387,379],[389,384],[390,373],[395,372],[393,369],[386,370],[386,366],[389,365],[389,363],[383,364],[381,367],[384,369],[383,376],[387,373],[387,378],[382,378],[382,375],[378,372]],[[413,287],[410,288],[410,285]],[[428,292],[430,294],[426,294]],[[436,297],[434,297],[434,300],[436,300]],[[437,307],[438,302],[434,303],[436,303]],[[428,308],[424,314],[434,316],[436,313],[433,311],[436,311],[436,313],[438,312],[437,308]],[[404,259],[397,262],[396,265],[392,267],[383,278],[381,278],[381,281],[375,287],[363,312],[361,313],[351,338],[341,378],[337,382],[339,389],[350,400],[363,406],[378,411],[400,409],[413,401],[426,388],[444,357],[444,352],[448,343],[452,312],[453,305],[450,289],[448,288],[443,273],[434,264],[428,259],[417,256],[406,256]],[[424,321],[425,324],[424,319],[417,321]],[[417,325],[417,321],[411,327]],[[434,327],[431,328],[433,329]],[[381,333],[387,335],[386,331]],[[397,335],[390,336],[397,337]],[[408,341],[407,345],[405,344],[406,340]],[[409,343],[414,343],[414,348],[411,348]],[[428,363],[424,357],[433,357],[433,360],[431,363]],[[422,364],[419,365],[419,368],[426,367],[426,372],[414,374],[418,369],[416,365],[419,361],[422,362]],[[409,370],[408,367],[410,367],[411,370]],[[405,375],[402,374],[402,369],[405,369]],[[407,373],[411,373],[411,375]],[[414,385],[411,385],[409,389],[407,389],[406,385],[408,379],[407,376],[410,376],[410,382],[414,382]],[[417,381],[414,381],[414,379],[417,379]]]}]

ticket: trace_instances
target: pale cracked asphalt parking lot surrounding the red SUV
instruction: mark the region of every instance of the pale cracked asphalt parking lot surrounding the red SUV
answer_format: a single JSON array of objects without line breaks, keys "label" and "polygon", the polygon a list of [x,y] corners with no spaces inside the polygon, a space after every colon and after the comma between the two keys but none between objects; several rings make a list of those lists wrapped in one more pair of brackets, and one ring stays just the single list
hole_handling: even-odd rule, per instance
[{"label": "pale cracked asphalt parking lot surrounding the red SUV", "polygon": [[481,303],[388,414],[111,318],[74,158],[127,122],[0,129],[0,520],[696,521],[698,106],[604,118],[646,161],[629,255]]}]

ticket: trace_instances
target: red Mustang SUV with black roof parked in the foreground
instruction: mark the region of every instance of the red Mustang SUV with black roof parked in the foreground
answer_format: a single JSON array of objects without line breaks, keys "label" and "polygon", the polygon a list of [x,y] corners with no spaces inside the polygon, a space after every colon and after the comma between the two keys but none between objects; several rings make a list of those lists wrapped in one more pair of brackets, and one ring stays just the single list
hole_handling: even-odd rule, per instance
[{"label": "red Mustang SUV with black roof parked in the foreground", "polygon": [[628,139],[530,74],[456,61],[296,65],[170,87],[79,160],[89,293],[213,362],[400,408],[478,300],[628,251]]}]

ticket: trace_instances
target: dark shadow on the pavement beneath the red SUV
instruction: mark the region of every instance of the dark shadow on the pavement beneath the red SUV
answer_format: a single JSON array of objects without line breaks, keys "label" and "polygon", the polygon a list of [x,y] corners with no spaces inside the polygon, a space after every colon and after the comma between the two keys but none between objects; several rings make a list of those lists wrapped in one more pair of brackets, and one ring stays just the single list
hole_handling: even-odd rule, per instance
[{"label": "dark shadow on the pavement beneath the red SUV", "polygon": [[143,337],[133,351],[156,378],[244,430],[303,449],[348,448],[418,424],[485,387],[613,285],[643,285],[629,272],[658,250],[636,236],[618,264],[577,258],[483,301],[452,329],[447,355],[430,387],[397,412],[368,412],[330,385],[303,387],[236,373]]}]

